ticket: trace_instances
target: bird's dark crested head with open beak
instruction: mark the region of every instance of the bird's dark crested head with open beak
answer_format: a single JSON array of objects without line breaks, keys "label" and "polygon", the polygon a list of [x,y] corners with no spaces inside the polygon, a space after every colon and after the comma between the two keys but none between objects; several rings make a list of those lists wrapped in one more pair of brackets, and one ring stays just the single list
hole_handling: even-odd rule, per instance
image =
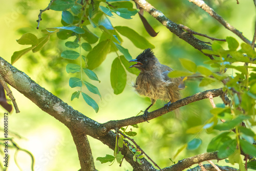
[{"label": "bird's dark crested head with open beak", "polygon": [[158,59],[155,57],[154,52],[148,48],[139,54],[136,59],[130,60],[129,62],[137,62],[129,68],[135,67],[139,70],[152,70]]}]

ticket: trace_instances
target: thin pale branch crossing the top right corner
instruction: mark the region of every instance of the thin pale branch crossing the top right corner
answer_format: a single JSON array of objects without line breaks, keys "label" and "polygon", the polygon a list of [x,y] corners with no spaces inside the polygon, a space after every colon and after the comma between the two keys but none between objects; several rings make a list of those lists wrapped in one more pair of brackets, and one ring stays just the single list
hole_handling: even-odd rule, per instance
[{"label": "thin pale branch crossing the top right corner", "polygon": [[205,12],[207,12],[210,16],[214,17],[220,24],[222,24],[226,29],[230,30],[234,34],[238,35],[246,44],[251,44],[250,40],[244,37],[243,33],[231,26],[226,22],[219,14],[217,14],[212,8],[210,8],[207,4],[205,4],[202,0],[188,0],[189,2],[194,3],[198,7],[202,8]]}]

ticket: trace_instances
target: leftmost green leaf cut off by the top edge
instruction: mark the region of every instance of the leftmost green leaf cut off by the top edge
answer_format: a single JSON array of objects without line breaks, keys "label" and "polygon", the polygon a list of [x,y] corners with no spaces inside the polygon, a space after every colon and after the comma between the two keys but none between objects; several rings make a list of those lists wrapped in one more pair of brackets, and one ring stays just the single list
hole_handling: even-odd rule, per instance
[{"label": "leftmost green leaf cut off by the top edge", "polygon": [[57,0],[54,1],[50,7],[51,10],[55,11],[66,11],[75,5],[74,0]]}]

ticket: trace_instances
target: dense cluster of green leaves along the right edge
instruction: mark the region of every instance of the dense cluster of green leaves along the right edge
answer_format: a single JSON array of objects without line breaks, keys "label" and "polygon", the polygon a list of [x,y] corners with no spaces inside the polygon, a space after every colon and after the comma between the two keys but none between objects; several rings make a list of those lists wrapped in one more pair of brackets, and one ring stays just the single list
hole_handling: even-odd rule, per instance
[{"label": "dense cluster of green leaves along the right edge", "polygon": [[[206,131],[208,134],[219,133],[207,147],[207,152],[218,151],[219,158],[228,158],[227,162],[238,163],[240,170],[245,170],[241,152],[256,157],[255,133],[255,100],[256,100],[256,52],[248,44],[241,44],[233,37],[227,37],[228,50],[214,42],[212,50],[203,50],[206,54],[214,55],[213,60],[204,62],[205,66],[197,66],[189,59],[180,59],[182,66],[188,71],[174,71],[169,76],[203,77],[199,86],[210,86],[216,82],[221,85],[223,104],[217,104],[210,110],[212,117],[202,125],[191,127],[187,134],[197,134]],[[240,47],[240,49],[239,49]],[[218,72],[212,72],[217,70]],[[196,149],[202,140],[194,138],[182,146],[176,156],[185,148]],[[248,162],[248,168],[255,169],[254,161]]]}]

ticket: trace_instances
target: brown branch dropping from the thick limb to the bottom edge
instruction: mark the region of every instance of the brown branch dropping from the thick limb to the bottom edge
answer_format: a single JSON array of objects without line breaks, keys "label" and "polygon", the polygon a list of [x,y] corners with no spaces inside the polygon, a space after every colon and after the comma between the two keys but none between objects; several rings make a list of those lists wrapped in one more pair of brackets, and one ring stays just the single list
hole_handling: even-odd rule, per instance
[{"label": "brown branch dropping from the thick limb to the bottom edge", "polygon": [[73,131],[71,131],[71,134],[76,144],[81,171],[95,171],[93,155],[87,135]]}]

